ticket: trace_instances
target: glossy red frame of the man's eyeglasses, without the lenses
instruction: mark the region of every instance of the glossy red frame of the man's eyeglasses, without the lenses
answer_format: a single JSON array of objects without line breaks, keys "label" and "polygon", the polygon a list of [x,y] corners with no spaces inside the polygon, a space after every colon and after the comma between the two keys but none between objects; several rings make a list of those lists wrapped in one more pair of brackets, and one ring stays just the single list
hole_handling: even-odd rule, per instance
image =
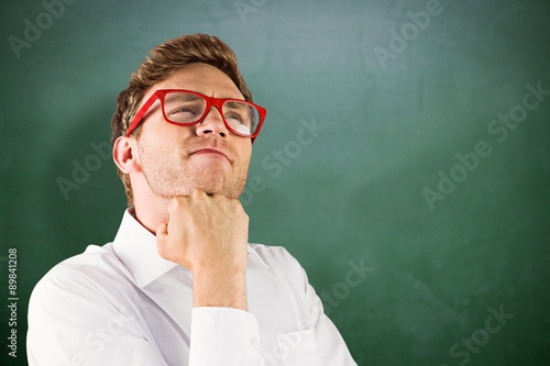
[{"label": "glossy red frame of the man's eyeglasses, without the lenses", "polygon": [[[166,95],[170,93],[170,92],[187,92],[187,93],[190,93],[190,95],[194,95],[194,96],[201,98],[202,100],[206,101],[205,112],[202,112],[202,115],[199,119],[197,119],[196,122],[182,123],[182,122],[170,121],[168,119],[168,117],[166,115],[166,112],[164,110],[164,99],[166,98]],[[241,137],[250,137],[250,138],[252,138],[252,142],[254,142],[254,140],[257,137],[260,130],[262,129],[262,125],[264,124],[265,115],[267,114],[267,110],[265,108],[263,108],[262,106],[255,104],[251,101],[248,101],[248,100],[235,99],[235,98],[208,97],[208,96],[205,96],[200,92],[193,91],[193,90],[186,90],[186,89],[157,89],[135,113],[134,118],[132,119],[132,122],[130,122],[130,125],[128,126],[127,136],[130,136],[130,134],[140,125],[140,123],[144,122],[143,117],[145,115],[145,113],[148,112],[150,108],[153,106],[153,103],[157,99],[161,100],[161,111],[163,112],[164,120],[167,123],[179,125],[179,126],[197,125],[205,120],[205,118],[208,115],[208,113],[210,113],[210,110],[212,109],[212,107],[216,107],[216,109],[218,110],[218,112],[221,115],[221,120],[223,121],[223,124],[231,133],[233,133],[238,136],[241,136]],[[223,111],[223,103],[226,103],[227,101],[242,102],[242,103],[252,106],[253,108],[255,108],[257,110],[260,117],[258,117],[258,121],[257,121],[257,127],[256,127],[256,131],[254,133],[245,135],[245,134],[242,134],[242,133],[235,131],[233,127],[231,127],[229,125],[229,123],[226,121],[226,117],[223,117],[223,112],[222,112]]]}]

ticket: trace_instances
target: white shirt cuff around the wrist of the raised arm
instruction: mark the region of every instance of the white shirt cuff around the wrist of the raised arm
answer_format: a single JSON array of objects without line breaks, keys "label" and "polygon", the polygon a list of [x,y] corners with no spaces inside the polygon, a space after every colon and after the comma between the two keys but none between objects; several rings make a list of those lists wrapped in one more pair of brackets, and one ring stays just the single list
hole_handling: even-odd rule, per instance
[{"label": "white shirt cuff around the wrist of the raised arm", "polygon": [[256,318],[233,308],[193,309],[189,366],[258,366]]}]

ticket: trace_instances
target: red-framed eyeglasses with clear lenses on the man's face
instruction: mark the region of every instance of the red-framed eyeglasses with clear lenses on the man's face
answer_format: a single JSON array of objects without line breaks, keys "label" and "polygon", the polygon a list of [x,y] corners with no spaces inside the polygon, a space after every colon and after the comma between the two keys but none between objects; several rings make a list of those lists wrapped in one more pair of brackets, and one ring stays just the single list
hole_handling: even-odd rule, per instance
[{"label": "red-framed eyeglasses with clear lenses on the man's face", "polygon": [[184,89],[160,89],[143,104],[128,127],[127,136],[143,122],[151,106],[160,99],[164,120],[168,123],[191,126],[200,123],[212,107],[220,112],[229,131],[238,136],[251,137],[260,133],[267,111],[265,108],[240,99],[213,98]]}]

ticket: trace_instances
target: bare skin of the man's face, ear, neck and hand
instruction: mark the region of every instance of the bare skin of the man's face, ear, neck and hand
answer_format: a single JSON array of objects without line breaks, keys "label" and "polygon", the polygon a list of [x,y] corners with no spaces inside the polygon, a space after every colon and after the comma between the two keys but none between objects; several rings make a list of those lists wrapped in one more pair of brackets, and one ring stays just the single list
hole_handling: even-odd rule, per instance
[{"label": "bare skin of the man's face, ear, neck and hand", "polygon": [[[218,98],[243,99],[219,69],[190,64],[154,85]],[[140,107],[141,107],[140,104]],[[160,255],[194,274],[195,307],[246,310],[249,217],[244,189],[251,138],[232,134],[212,108],[196,126],[167,123],[156,101],[142,132],[119,137],[113,158],[130,175],[136,219],[156,235]]]}]

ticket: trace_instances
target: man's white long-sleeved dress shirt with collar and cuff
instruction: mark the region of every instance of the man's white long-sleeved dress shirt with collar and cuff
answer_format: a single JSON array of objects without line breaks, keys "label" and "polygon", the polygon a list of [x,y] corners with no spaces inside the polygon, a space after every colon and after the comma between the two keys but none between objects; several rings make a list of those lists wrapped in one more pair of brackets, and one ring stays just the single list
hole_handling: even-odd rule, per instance
[{"label": "man's white long-sleeved dress shirt with collar and cuff", "polygon": [[283,247],[249,245],[249,311],[194,308],[193,274],[156,247],[125,211],[112,243],[50,270],[29,304],[29,364],[356,365]]}]

